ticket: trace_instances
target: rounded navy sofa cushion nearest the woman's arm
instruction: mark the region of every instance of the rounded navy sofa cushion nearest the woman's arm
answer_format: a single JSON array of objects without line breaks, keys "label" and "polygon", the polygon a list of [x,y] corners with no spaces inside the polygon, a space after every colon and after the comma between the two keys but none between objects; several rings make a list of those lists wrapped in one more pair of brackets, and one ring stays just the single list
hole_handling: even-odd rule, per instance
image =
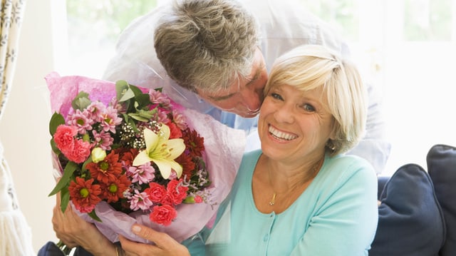
[{"label": "rounded navy sofa cushion nearest the woman's arm", "polygon": [[370,256],[437,255],[445,239],[445,222],[432,181],[420,165],[396,170],[380,201]]}]

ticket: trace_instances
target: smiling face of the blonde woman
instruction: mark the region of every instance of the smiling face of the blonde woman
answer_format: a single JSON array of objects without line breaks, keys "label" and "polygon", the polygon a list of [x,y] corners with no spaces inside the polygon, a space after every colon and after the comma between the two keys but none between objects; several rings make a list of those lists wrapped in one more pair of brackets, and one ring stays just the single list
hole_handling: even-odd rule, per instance
[{"label": "smiling face of the blonde woman", "polygon": [[263,153],[291,163],[320,159],[333,130],[333,116],[322,98],[318,89],[304,92],[288,85],[273,86],[259,114]]}]

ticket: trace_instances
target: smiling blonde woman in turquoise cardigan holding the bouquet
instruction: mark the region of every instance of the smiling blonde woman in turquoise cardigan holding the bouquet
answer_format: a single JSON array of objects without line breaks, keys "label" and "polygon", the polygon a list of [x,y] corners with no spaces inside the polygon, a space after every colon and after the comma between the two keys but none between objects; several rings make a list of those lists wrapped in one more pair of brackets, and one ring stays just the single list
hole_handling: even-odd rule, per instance
[{"label": "smiling blonde woman in turquoise cardigan holding the bouquet", "polygon": [[[343,155],[363,135],[366,91],[353,64],[323,46],[274,63],[259,115],[261,150],[244,155],[212,228],[184,242],[192,255],[368,255],[378,221],[377,178]],[[182,245],[120,237],[127,255],[182,255]],[[187,253],[187,252],[185,252]]]}]

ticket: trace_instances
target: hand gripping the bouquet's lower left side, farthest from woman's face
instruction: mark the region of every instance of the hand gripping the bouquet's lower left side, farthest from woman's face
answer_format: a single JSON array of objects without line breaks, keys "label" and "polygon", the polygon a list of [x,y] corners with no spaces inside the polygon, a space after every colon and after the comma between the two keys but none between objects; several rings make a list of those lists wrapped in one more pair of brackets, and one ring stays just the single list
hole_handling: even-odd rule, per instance
[{"label": "hand gripping the bouquet's lower left side, farthest from woman's face", "polygon": [[81,246],[97,256],[115,255],[115,245],[95,225],[74,213],[71,205],[68,205],[65,213],[62,213],[60,193],[56,194],[52,225],[58,239],[70,248]]}]

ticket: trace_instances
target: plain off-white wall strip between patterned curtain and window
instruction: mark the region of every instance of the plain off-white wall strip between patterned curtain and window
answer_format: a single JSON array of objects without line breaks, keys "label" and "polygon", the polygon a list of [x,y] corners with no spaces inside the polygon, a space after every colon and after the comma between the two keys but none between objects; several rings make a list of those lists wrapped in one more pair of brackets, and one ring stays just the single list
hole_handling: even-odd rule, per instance
[{"label": "plain off-white wall strip between patterned curtain and window", "polygon": [[[0,122],[0,140],[13,175],[19,205],[33,234],[33,249],[58,241],[51,217],[53,188],[48,100],[43,77],[53,71],[51,0],[26,2],[10,98]],[[1,238],[0,238],[1,239]]]}]

